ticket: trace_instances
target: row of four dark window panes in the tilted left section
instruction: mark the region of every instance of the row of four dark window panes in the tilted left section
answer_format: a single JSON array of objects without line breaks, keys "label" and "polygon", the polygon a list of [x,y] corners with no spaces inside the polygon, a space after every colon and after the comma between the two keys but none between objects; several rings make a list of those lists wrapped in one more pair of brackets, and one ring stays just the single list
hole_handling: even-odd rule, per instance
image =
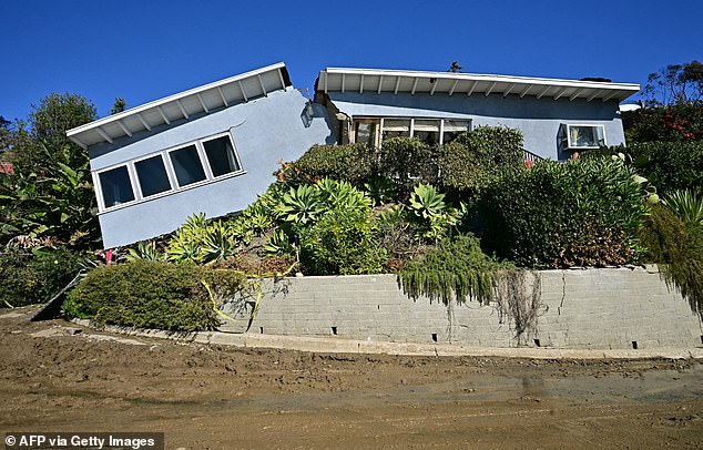
[{"label": "row of four dark window panes in the tilted left section", "polygon": [[228,134],[98,173],[102,208],[145,200],[242,171]]}]

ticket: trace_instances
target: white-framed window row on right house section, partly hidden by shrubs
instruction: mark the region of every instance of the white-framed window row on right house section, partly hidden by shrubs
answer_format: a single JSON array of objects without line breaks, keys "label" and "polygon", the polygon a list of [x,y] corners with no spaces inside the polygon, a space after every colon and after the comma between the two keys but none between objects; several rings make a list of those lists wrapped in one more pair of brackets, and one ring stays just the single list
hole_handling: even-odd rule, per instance
[{"label": "white-framed window row on right house section, partly hidden by shrubs", "polygon": [[353,142],[381,146],[383,141],[397,137],[416,137],[429,145],[446,144],[471,129],[468,119],[426,117],[355,117]]}]

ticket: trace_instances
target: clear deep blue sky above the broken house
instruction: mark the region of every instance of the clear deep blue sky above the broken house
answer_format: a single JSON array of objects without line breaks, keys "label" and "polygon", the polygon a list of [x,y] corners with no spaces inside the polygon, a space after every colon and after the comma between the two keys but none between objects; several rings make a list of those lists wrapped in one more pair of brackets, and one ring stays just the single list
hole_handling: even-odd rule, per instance
[{"label": "clear deep blue sky above the broken house", "polygon": [[703,60],[703,2],[683,1],[38,1],[0,7],[0,115],[51,92],[100,116],[284,61],[296,88],[325,67],[641,83]]}]

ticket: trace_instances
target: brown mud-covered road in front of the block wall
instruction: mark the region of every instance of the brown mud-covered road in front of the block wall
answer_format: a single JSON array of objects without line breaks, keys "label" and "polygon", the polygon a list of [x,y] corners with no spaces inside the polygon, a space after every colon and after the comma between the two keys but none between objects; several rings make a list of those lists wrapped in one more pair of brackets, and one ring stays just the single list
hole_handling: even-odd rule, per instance
[{"label": "brown mud-covered road in front of the block wall", "polygon": [[0,311],[0,433],[163,431],[167,449],[703,448],[694,360],[315,355]]}]

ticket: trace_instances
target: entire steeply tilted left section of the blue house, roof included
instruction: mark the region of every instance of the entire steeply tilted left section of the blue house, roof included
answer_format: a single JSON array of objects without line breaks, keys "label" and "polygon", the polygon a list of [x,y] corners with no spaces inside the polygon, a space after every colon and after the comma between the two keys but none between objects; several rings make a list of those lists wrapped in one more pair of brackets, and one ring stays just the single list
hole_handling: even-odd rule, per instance
[{"label": "entire steeply tilted left section of the blue house, roof included", "polygon": [[195,88],[70,130],[88,149],[103,245],[176,229],[194,213],[245,208],[278,161],[332,143],[326,111],[284,63]]}]

